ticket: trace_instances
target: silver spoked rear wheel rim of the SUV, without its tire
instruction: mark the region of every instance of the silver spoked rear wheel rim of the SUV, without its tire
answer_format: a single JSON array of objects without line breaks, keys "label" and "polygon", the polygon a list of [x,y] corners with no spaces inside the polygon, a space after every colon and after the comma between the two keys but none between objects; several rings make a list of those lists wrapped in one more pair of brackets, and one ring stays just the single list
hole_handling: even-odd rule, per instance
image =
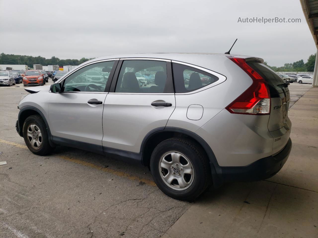
[{"label": "silver spoked rear wheel rim of the SUV, without its tire", "polygon": [[172,189],[185,190],[193,182],[192,163],[178,151],[168,151],[163,154],[158,169],[162,180]]}]

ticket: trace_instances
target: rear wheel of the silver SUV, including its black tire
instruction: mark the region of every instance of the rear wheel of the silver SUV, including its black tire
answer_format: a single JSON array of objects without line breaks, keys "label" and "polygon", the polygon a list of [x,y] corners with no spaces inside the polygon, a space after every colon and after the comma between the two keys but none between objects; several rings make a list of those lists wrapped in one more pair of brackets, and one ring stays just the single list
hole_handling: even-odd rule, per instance
[{"label": "rear wheel of the silver SUV, including its black tire", "polygon": [[[162,163],[167,169],[160,166]],[[212,182],[210,164],[204,152],[195,142],[180,138],[170,138],[156,146],[150,159],[150,171],[158,188],[179,200],[196,199]],[[192,171],[192,175],[185,171]],[[163,176],[168,175],[170,180],[167,177],[166,182]],[[177,181],[184,182],[184,187]]]}]

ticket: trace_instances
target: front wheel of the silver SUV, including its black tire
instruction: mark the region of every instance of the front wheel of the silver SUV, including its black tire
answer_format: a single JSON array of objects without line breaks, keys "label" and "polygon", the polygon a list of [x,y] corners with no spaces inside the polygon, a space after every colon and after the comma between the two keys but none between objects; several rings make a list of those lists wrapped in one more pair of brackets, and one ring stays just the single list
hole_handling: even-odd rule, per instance
[{"label": "front wheel of the silver SUV, including its black tire", "polygon": [[[35,127],[33,127],[34,125]],[[32,131],[32,128],[34,129],[31,134],[34,136],[38,136],[37,138],[33,138],[30,133],[28,135],[28,131]],[[38,130],[37,130],[38,129]],[[40,131],[40,135],[37,133],[37,131]],[[47,133],[45,122],[43,121],[42,117],[39,115],[32,115],[25,119],[23,123],[23,138],[26,146],[29,148],[29,150],[36,155],[48,155],[53,151],[53,147],[49,143],[49,136]],[[35,141],[33,141],[35,139]],[[31,142],[35,142],[33,146],[31,145]]]}]

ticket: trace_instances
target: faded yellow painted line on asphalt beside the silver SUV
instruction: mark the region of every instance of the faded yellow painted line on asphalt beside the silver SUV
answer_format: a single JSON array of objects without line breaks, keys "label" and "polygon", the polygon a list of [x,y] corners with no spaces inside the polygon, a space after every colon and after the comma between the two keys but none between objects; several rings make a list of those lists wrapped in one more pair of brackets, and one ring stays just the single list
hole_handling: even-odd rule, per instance
[{"label": "faded yellow painted line on asphalt beside the silver SUV", "polygon": [[[28,149],[28,147],[26,145],[21,145],[21,144],[18,144],[18,143],[5,141],[5,140],[2,140],[2,139],[0,139],[0,142],[8,144],[8,145],[16,146],[16,147],[22,148],[22,149]],[[78,160],[78,159],[73,159],[73,158],[65,156],[65,155],[58,155],[57,157],[59,157],[61,159],[64,159],[64,160],[67,160],[67,161],[70,161],[70,162],[73,162],[73,163],[77,163],[77,164],[81,164],[81,165],[84,165],[84,166],[87,166],[87,167],[91,167],[93,169],[98,169],[98,170],[101,170],[101,171],[104,171],[104,172],[107,172],[107,173],[110,173],[110,174],[113,174],[113,175],[116,175],[116,176],[126,177],[129,180],[136,180],[136,181],[144,182],[145,184],[148,184],[150,186],[154,186],[154,187],[156,186],[156,183],[154,181],[151,181],[151,180],[148,180],[148,179],[142,179],[142,178],[139,178],[139,177],[136,177],[136,176],[132,176],[132,175],[127,174],[125,172],[116,171],[116,170],[110,169],[110,168],[104,168],[104,167],[98,166],[96,164],[89,163],[89,162],[82,161],[82,160]]]}]

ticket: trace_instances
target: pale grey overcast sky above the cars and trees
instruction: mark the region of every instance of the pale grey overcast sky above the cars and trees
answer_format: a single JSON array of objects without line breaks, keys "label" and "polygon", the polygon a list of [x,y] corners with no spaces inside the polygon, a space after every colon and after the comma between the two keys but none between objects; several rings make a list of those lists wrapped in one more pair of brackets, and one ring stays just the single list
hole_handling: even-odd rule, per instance
[{"label": "pale grey overcast sky above the cars and trees", "polygon": [[[299,0],[0,0],[0,53],[60,59],[213,52],[283,66],[316,52]],[[238,23],[239,17],[301,23]]]}]

